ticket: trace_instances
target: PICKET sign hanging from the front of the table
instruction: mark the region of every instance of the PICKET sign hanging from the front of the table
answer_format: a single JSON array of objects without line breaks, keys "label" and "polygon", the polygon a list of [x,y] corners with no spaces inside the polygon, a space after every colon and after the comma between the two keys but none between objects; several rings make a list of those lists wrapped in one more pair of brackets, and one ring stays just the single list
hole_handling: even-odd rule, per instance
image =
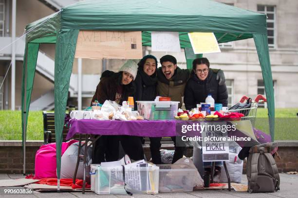
[{"label": "PICKET sign hanging from the front of the table", "polygon": [[[206,122],[206,125],[226,125],[226,122]],[[215,127],[207,127],[215,129]],[[225,140],[223,140],[225,137]],[[204,130],[202,132],[202,152],[203,162],[229,161],[229,144],[227,140],[227,132],[216,130]]]}]

